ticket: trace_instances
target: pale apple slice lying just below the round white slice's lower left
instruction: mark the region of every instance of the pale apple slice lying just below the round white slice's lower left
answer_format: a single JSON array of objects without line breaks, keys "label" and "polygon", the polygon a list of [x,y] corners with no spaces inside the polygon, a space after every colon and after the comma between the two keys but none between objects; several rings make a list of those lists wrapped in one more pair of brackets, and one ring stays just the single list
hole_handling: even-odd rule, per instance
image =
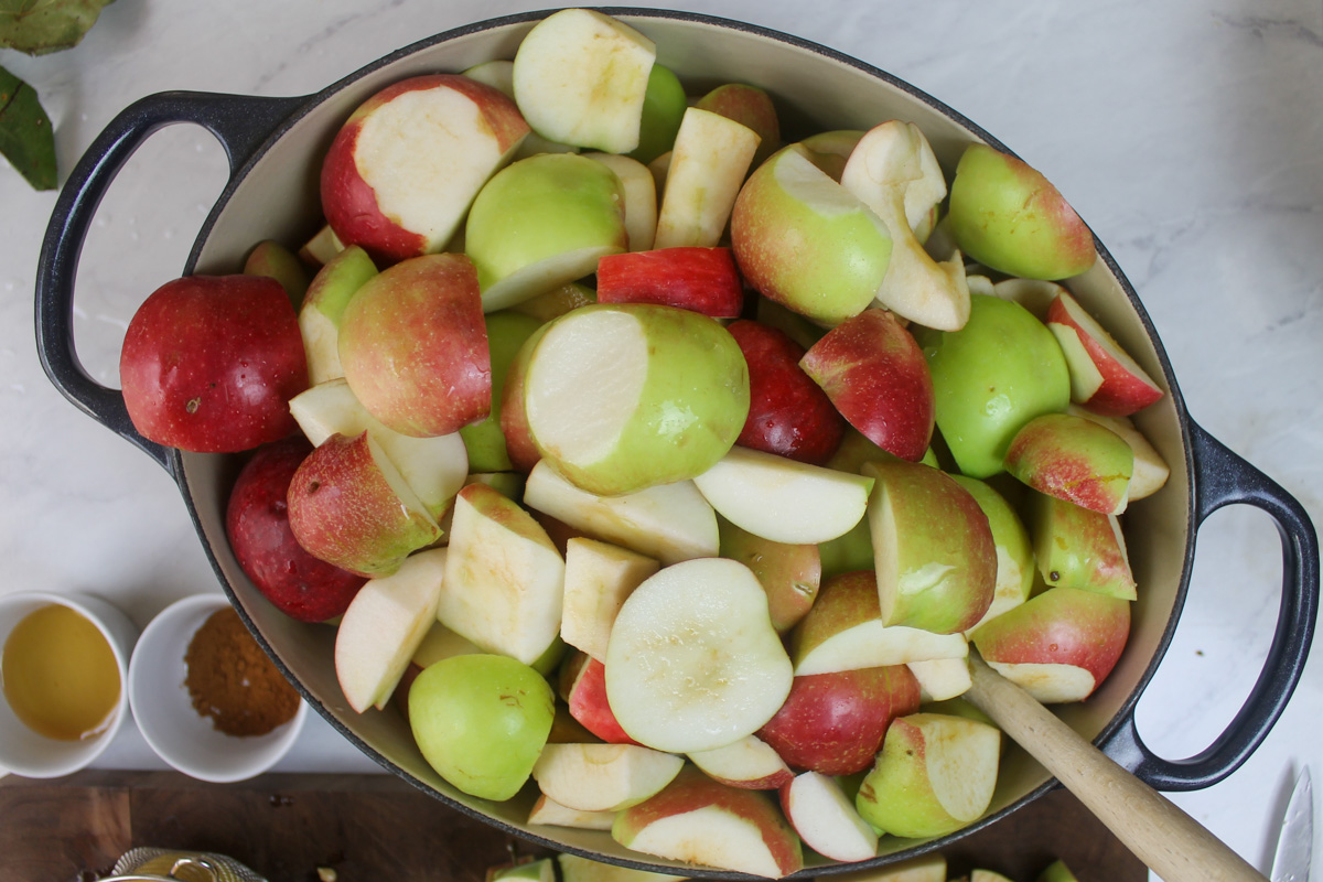
[{"label": "pale apple slice lying just below the round white slice's lower left", "polygon": [[681,756],[638,744],[548,744],[533,779],[568,808],[618,812],[669,784],[681,766]]}]

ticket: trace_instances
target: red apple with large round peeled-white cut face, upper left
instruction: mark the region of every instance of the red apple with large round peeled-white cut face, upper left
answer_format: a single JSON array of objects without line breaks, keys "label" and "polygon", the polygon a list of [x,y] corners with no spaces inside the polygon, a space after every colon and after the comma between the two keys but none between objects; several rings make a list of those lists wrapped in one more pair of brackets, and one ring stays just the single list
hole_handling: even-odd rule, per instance
[{"label": "red apple with large round peeled-white cut face, upper left", "polygon": [[327,222],[384,263],[441,251],[527,134],[513,100],[468,77],[392,83],[355,110],[327,151]]}]

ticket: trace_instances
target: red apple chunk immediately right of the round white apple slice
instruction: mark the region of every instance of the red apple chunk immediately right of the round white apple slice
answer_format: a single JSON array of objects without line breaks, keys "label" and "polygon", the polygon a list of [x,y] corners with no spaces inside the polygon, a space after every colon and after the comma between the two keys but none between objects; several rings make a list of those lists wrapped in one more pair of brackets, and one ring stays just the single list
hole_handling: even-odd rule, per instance
[{"label": "red apple chunk immediately right of the round white apple slice", "polygon": [[790,766],[853,775],[873,764],[892,719],[918,702],[918,680],[905,665],[799,676],[758,737]]}]

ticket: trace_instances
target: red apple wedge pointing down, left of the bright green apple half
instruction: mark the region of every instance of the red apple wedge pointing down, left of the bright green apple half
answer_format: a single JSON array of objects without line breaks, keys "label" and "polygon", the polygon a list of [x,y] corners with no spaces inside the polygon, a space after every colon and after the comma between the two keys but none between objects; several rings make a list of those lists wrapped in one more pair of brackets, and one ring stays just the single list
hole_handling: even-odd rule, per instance
[{"label": "red apple wedge pointing down, left of the bright green apple half", "polygon": [[799,362],[868,440],[917,463],[933,440],[933,377],[918,342],[888,309],[864,309]]}]

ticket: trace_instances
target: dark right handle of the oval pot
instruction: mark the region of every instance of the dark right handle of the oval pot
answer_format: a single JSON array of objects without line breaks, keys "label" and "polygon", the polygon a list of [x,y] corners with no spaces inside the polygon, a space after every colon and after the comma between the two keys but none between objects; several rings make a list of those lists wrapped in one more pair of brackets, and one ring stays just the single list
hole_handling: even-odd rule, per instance
[{"label": "dark right handle of the oval pot", "polygon": [[1263,669],[1236,717],[1204,751],[1184,760],[1155,755],[1135,729],[1134,714],[1106,752],[1156,789],[1192,791],[1222,780],[1262,743],[1286,709],[1308,656],[1319,607],[1319,542],[1295,497],[1189,423],[1195,465],[1195,529],[1224,505],[1253,505],[1277,524],[1282,540],[1282,600]]}]

